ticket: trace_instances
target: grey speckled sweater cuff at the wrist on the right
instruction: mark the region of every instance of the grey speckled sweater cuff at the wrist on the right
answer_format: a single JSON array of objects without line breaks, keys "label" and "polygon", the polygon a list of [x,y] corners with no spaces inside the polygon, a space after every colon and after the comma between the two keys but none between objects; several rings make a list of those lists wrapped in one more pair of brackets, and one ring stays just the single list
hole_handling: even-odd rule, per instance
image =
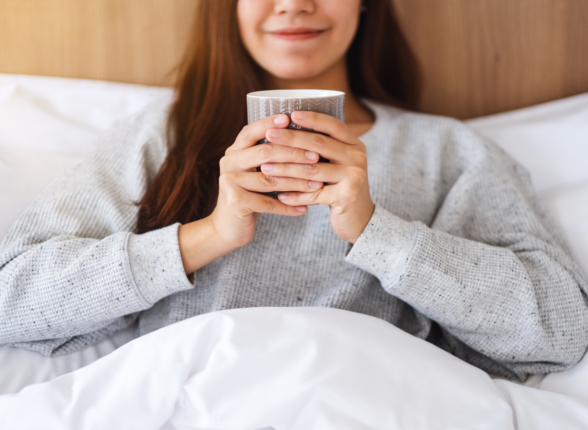
[{"label": "grey speckled sweater cuff at the wrist on the right", "polygon": [[389,287],[402,279],[414,237],[413,223],[376,205],[345,261],[377,277],[383,287]]}]

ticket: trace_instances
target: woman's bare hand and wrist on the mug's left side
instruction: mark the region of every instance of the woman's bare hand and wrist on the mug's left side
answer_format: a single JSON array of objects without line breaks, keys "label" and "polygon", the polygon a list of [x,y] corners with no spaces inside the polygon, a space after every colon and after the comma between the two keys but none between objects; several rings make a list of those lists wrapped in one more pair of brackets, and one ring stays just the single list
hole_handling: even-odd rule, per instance
[{"label": "woman's bare hand and wrist on the mug's left side", "polygon": [[300,216],[306,206],[288,206],[259,193],[272,191],[313,192],[322,182],[292,177],[266,176],[256,168],[263,163],[318,162],[319,154],[299,148],[265,143],[256,146],[270,129],[286,128],[287,115],[273,115],[248,126],[220,159],[219,196],[206,218],[179,227],[178,240],[186,274],[248,244],[255,234],[260,213]]}]

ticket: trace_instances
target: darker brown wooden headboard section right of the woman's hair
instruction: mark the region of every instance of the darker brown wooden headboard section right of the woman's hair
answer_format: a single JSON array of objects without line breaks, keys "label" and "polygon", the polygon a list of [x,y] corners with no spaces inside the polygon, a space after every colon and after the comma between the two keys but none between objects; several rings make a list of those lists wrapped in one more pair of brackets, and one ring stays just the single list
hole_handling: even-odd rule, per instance
[{"label": "darker brown wooden headboard section right of the woman's hair", "polygon": [[393,0],[420,110],[468,118],[588,91],[586,0]]}]

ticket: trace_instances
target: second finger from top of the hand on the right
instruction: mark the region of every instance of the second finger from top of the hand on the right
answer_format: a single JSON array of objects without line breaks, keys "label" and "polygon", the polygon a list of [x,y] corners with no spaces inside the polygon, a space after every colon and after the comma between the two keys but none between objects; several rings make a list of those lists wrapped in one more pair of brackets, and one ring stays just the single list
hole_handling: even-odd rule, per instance
[{"label": "second finger from top of the hand on the right", "polygon": [[342,164],[352,164],[353,156],[358,152],[358,147],[355,145],[349,145],[319,133],[300,130],[270,129],[266,133],[266,139],[278,145],[317,152],[333,162]]}]

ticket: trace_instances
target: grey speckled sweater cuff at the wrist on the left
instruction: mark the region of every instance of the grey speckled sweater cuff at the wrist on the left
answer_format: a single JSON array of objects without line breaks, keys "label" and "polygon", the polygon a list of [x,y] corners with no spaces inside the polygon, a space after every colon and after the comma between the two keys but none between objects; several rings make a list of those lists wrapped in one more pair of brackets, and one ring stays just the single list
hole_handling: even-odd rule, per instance
[{"label": "grey speckled sweater cuff at the wrist on the left", "polygon": [[182,265],[179,225],[129,237],[131,273],[139,292],[151,305],[170,294],[194,287]]}]

